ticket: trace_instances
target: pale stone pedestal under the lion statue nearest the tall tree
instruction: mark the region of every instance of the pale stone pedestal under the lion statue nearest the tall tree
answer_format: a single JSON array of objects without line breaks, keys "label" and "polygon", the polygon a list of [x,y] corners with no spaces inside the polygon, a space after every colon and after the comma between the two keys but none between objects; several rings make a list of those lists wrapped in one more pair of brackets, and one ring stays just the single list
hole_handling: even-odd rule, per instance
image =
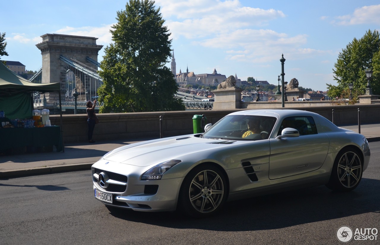
[{"label": "pale stone pedestal under the lion statue nearest the tall tree", "polygon": [[240,109],[242,91],[235,87],[212,91],[215,94],[213,109]]}]

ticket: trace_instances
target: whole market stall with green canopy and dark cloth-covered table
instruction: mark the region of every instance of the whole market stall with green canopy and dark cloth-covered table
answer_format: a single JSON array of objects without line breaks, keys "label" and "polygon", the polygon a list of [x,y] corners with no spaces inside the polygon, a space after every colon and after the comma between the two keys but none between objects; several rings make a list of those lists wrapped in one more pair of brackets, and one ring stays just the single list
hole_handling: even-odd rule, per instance
[{"label": "whole market stall with green canopy and dark cloth-covered table", "polygon": [[[62,141],[62,110],[60,126],[35,127],[32,122],[33,93],[59,92],[59,83],[31,83],[0,62],[0,151],[55,146],[64,151]],[[61,109],[61,108],[60,108]],[[22,122],[16,119],[24,119]],[[15,124],[19,123],[19,124]]]}]

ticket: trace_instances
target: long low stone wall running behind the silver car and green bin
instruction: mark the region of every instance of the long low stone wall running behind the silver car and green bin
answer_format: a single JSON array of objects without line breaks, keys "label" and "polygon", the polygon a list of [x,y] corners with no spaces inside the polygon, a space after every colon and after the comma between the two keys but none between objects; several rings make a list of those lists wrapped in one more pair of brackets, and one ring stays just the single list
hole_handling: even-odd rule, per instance
[{"label": "long low stone wall running behind the silver car and green bin", "polygon": [[[318,101],[315,101],[318,102]],[[289,102],[288,102],[289,103]],[[294,103],[294,101],[292,102]],[[298,104],[298,103],[296,103]],[[281,104],[280,104],[281,106]],[[276,109],[306,110],[323,115],[332,120],[334,109],[334,122],[336,125],[357,124],[358,108],[361,113],[361,123],[380,122],[380,105],[321,105],[313,107],[290,107]],[[267,108],[269,108],[267,106]],[[264,108],[252,108],[264,109]],[[275,109],[274,107],[272,109]],[[109,113],[98,114],[100,123],[95,125],[94,140],[141,140],[160,137],[160,115],[163,116],[163,136],[178,136],[193,133],[193,115],[205,114],[207,123],[216,123],[225,115],[242,111],[244,109],[228,110],[199,110],[199,111],[170,111],[170,112],[138,112],[138,113]],[[87,117],[84,114],[62,115],[63,141],[86,142],[87,141]],[[51,115],[51,124],[60,125],[60,116]]]}]

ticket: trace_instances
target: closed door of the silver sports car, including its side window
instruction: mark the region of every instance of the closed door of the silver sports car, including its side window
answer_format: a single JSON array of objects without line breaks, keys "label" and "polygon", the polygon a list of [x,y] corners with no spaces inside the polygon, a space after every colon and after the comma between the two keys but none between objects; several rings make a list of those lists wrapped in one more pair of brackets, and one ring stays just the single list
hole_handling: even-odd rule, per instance
[{"label": "closed door of the silver sports car, including its side window", "polygon": [[300,136],[270,140],[269,179],[317,170],[325,162],[328,153],[329,138],[324,133],[318,134],[312,117],[284,119],[279,134],[285,127],[297,129]]}]

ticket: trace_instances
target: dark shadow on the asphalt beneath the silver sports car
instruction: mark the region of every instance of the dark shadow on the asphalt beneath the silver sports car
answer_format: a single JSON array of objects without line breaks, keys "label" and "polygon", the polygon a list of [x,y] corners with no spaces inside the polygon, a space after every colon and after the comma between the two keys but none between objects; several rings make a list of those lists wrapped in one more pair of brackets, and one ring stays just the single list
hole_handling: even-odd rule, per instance
[{"label": "dark shadow on the asphalt beneath the silver sports car", "polygon": [[[334,192],[325,186],[266,195],[225,204],[213,217],[195,219],[177,212],[136,212],[112,209],[114,217],[177,229],[256,231],[279,229],[363,213],[379,215],[380,181],[363,178],[351,192]],[[104,210],[108,210],[105,208]]]}]

